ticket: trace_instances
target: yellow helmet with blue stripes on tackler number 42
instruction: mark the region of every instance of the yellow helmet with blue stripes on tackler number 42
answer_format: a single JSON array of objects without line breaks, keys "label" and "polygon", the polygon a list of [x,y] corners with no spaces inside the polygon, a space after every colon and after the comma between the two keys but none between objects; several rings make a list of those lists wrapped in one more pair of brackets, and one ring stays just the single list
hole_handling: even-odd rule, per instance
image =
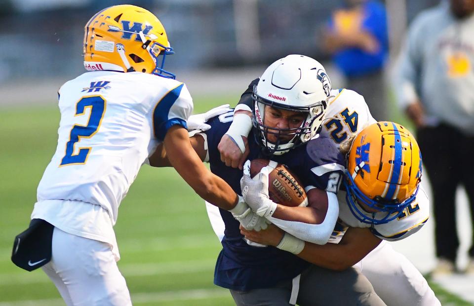
[{"label": "yellow helmet with blue stripes on tackler number 42", "polygon": [[[400,124],[382,121],[367,126],[354,139],[347,159],[346,199],[359,221],[390,222],[415,199],[421,152],[413,135]],[[380,219],[375,219],[375,213],[367,217],[357,204],[387,214]]]}]

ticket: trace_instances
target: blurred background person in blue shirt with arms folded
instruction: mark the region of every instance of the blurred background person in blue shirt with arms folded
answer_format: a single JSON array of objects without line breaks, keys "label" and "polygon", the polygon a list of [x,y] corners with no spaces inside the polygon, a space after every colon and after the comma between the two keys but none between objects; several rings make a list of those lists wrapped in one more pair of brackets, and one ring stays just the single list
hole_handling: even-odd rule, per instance
[{"label": "blurred background person in blue shirt with arms folded", "polygon": [[387,14],[375,0],[346,0],[323,33],[324,47],[346,78],[345,87],[361,94],[377,120],[387,120],[384,67],[388,57]]}]

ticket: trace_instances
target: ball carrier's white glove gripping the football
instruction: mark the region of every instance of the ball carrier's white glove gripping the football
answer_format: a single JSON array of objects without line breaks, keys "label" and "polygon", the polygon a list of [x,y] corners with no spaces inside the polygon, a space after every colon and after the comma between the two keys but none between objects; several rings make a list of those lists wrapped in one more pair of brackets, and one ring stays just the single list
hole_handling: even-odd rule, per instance
[{"label": "ball carrier's white glove gripping the football", "polygon": [[253,179],[250,178],[250,160],[243,165],[240,188],[245,202],[257,215],[268,218],[273,215],[277,204],[268,195],[269,167],[263,167]]}]

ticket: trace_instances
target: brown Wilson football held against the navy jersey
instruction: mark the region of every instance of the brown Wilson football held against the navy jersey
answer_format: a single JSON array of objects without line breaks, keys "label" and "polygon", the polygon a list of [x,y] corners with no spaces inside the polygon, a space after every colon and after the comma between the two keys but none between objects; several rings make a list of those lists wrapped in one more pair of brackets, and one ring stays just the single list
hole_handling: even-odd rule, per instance
[{"label": "brown Wilson football held against the navy jersey", "polygon": [[285,206],[306,206],[308,199],[300,180],[276,161],[258,158],[250,162],[250,177],[257,175],[260,170],[269,165],[273,168],[268,175],[268,194],[270,199]]}]

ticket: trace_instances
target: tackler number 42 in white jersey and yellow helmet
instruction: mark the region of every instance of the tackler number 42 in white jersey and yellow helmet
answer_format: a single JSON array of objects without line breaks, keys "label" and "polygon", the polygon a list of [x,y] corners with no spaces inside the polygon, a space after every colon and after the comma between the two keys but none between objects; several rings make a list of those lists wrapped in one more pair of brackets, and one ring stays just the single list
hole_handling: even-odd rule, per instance
[{"label": "tackler number 42 in white jersey and yellow helmet", "polygon": [[[321,79],[328,80],[326,77]],[[259,78],[253,80],[242,94],[234,112],[234,121],[218,145],[222,161],[232,167],[241,167],[244,156],[248,153],[247,136],[249,139],[252,137],[248,135],[252,126],[248,120],[252,120],[250,118],[255,108],[253,89],[258,82]],[[388,243],[417,232],[429,216],[429,200],[422,188],[419,188],[418,192],[421,155],[415,139],[401,125],[394,122],[377,122],[370,114],[364,98],[355,91],[332,89],[330,96],[319,137],[331,139],[347,153],[356,135],[359,135],[359,143],[353,146],[354,150],[348,155],[347,173],[351,175],[346,175],[347,182],[356,169],[371,166],[375,168],[367,173],[359,171],[359,175],[354,176],[354,182],[348,185],[351,187],[350,193],[345,190],[338,193],[339,218],[333,236],[329,239],[329,242],[333,243],[306,243],[306,247],[298,256],[324,268],[358,268],[371,281],[375,292],[389,305],[440,305],[423,275]],[[395,146],[394,143],[392,147],[386,147],[383,156],[378,156],[377,153],[383,150],[382,144],[388,146],[388,140],[394,141],[394,136],[395,139],[402,140],[396,142],[400,146]],[[393,156],[398,156],[398,159],[392,160],[396,159]],[[364,165],[356,167],[361,161]],[[379,168],[382,164],[397,167],[387,171],[385,168]],[[398,178],[401,179],[400,182]],[[361,189],[352,188],[357,184]],[[380,206],[381,203],[373,199],[386,197],[388,194],[392,200],[397,200],[398,204],[388,211],[377,210],[377,205]],[[392,200],[387,203],[393,204]],[[364,202],[371,203],[374,207],[364,207]],[[381,207],[385,207],[387,203],[383,203]],[[222,239],[222,221],[210,205],[207,205],[207,211],[216,235]],[[274,227],[263,232],[242,229],[242,233],[251,241],[266,245],[278,245],[283,236],[283,233]],[[393,290],[394,287],[404,288],[404,294],[398,294],[398,291]]]}]

